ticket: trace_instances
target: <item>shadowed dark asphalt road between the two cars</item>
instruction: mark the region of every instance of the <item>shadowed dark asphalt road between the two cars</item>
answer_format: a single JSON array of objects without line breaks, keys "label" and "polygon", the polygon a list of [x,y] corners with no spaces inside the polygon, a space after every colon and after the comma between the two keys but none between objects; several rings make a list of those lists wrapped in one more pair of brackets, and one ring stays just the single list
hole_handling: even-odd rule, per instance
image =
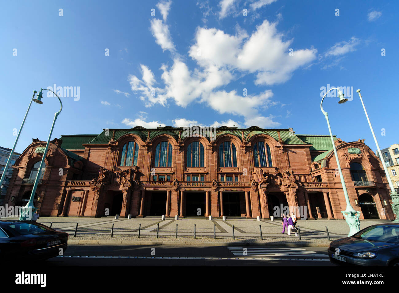
[{"label": "shadowed dark asphalt road between the two cars", "polygon": [[333,265],[324,247],[69,245],[46,265]]}]

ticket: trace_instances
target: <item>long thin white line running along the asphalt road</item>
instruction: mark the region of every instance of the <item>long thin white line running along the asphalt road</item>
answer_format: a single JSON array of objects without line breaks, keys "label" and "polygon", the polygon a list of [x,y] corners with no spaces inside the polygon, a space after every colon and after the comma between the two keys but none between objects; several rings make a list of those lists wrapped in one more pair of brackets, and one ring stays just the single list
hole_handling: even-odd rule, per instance
[{"label": "long thin white line running along the asphalt road", "polygon": [[330,261],[322,258],[194,258],[176,256],[57,256],[57,258],[113,258],[113,259],[157,259],[157,260],[306,260],[325,262]]}]

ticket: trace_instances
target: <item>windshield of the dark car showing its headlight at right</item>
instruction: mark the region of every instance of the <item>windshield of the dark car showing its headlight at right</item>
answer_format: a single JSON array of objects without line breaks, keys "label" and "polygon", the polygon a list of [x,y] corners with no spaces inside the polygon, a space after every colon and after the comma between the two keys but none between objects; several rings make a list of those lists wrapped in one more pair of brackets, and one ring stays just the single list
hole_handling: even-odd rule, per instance
[{"label": "windshield of the dark car showing its headlight at right", "polygon": [[371,226],[352,237],[374,242],[399,243],[399,226]]}]

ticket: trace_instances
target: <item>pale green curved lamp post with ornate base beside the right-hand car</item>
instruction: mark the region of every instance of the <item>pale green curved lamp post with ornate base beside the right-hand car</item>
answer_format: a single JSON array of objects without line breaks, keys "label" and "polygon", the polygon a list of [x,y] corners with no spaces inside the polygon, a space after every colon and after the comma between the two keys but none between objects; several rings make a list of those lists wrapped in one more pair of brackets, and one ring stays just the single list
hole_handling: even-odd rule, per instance
[{"label": "pale green curved lamp post with ornate base beside the right-hand car", "polygon": [[[330,90],[334,90],[334,89],[338,90],[338,96],[340,98],[340,101],[338,102],[338,104],[343,104],[344,102],[346,102],[348,100],[347,98],[344,98],[344,94],[342,93],[342,91],[339,88],[335,88],[335,87],[330,88]],[[330,90],[328,90],[328,92],[330,92]],[[326,117],[328,131],[330,131],[330,137],[331,137],[332,147],[334,149],[335,160],[337,161],[338,171],[340,172],[340,179],[341,179],[341,183],[342,183],[342,189],[344,190],[344,195],[345,195],[345,200],[346,200],[346,210],[344,210],[342,212],[342,214],[344,215],[346,223],[348,224],[349,229],[350,229],[348,236],[352,236],[356,232],[360,231],[360,220],[359,220],[360,212],[354,210],[354,208],[350,204],[348,191],[346,190],[344,175],[342,175],[340,160],[338,159],[337,149],[335,148],[334,138],[332,137],[330,121],[328,120],[328,113],[323,110],[323,100],[326,97],[326,95],[328,94],[328,92],[326,92],[326,94],[324,94],[324,96],[322,98],[322,101],[320,103],[320,109],[322,110],[324,116]]]}]

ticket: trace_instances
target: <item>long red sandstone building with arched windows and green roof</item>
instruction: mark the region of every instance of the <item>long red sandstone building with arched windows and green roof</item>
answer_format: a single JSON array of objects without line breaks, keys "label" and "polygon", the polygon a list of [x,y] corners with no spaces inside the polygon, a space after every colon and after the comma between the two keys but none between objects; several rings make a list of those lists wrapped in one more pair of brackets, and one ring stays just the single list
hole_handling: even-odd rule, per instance
[{"label": "long red sandstone building with arched windows and green roof", "polygon": [[[363,143],[335,138],[350,203],[361,218],[394,219],[382,165]],[[5,197],[28,201],[45,142],[16,161]],[[42,216],[269,218],[306,207],[306,218],[343,219],[346,201],[330,136],[223,126],[213,137],[183,128],[105,129],[49,144],[34,205]]]}]

